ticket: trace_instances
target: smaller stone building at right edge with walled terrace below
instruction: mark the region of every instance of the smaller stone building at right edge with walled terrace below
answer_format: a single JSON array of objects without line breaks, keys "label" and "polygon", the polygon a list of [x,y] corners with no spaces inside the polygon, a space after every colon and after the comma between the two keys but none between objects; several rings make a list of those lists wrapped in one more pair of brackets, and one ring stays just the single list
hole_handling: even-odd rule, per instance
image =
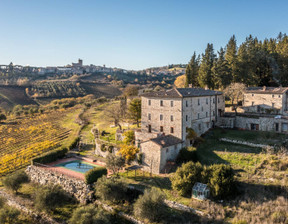
[{"label": "smaller stone building at right edge with walled terrace below", "polygon": [[220,126],[288,132],[288,87],[248,87],[237,116],[225,113]]}]

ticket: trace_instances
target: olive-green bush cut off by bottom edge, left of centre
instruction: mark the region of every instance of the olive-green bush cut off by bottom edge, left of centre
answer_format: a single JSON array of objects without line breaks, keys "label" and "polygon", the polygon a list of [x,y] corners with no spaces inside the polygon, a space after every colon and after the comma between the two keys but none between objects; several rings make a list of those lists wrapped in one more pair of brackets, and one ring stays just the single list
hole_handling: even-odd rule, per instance
[{"label": "olive-green bush cut off by bottom edge, left of centre", "polygon": [[88,205],[74,210],[69,224],[101,223],[110,224],[111,215],[100,207]]}]

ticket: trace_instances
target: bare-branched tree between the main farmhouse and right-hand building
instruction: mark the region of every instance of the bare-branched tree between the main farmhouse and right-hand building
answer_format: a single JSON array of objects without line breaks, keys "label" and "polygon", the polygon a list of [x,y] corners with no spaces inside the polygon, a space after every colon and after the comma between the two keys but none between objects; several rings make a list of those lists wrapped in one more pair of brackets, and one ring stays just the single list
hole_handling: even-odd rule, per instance
[{"label": "bare-branched tree between the main farmhouse and right-hand building", "polygon": [[224,94],[226,97],[230,98],[236,115],[239,103],[243,101],[245,90],[246,86],[243,83],[231,83],[224,89]]}]

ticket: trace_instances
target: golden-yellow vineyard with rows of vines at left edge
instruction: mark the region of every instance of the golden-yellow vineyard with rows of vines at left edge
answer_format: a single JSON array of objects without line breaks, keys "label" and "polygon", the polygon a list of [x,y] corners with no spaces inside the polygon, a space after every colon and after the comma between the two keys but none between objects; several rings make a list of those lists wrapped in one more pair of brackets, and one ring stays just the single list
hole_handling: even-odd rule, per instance
[{"label": "golden-yellow vineyard with rows of vines at left edge", "polygon": [[72,108],[0,124],[0,176],[27,166],[42,153],[67,145],[77,124],[63,120],[73,119],[77,112]]}]

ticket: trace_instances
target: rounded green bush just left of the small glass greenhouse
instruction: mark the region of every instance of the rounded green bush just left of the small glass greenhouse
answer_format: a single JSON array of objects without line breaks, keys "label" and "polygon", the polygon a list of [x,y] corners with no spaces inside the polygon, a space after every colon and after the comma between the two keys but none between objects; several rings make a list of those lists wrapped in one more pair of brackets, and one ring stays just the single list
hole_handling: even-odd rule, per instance
[{"label": "rounded green bush just left of the small glass greenhouse", "polygon": [[202,170],[203,167],[199,162],[182,164],[171,177],[172,188],[177,190],[180,195],[191,194],[192,187],[201,179]]}]

